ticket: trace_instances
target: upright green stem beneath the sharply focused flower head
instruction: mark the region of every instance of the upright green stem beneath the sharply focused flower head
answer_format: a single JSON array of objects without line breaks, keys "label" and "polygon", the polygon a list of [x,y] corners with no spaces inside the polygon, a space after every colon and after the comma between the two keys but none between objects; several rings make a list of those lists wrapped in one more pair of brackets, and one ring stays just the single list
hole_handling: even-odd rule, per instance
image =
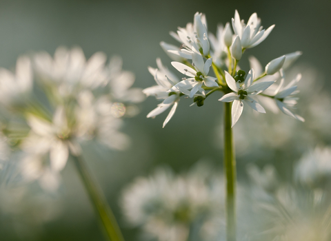
[{"label": "upright green stem beneath the sharply focused flower head", "polygon": [[236,240],[236,160],[231,128],[232,103],[224,103],[224,171],[226,178],[226,236],[228,241]]}]

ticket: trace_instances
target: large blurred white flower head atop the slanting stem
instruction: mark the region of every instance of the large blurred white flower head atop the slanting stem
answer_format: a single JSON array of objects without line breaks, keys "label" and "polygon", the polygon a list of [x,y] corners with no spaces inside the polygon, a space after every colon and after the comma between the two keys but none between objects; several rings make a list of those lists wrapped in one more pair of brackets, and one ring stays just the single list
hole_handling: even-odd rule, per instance
[{"label": "large blurred white flower head atop the slanting stem", "polygon": [[80,48],[58,48],[21,56],[16,72],[0,69],[1,131],[21,153],[21,173],[45,189],[59,185],[59,171],[81,143],[96,139],[124,149],[122,116],[137,114],[145,96],[132,88],[134,75],[121,70],[121,59],[106,64],[106,54],[86,59]]}]

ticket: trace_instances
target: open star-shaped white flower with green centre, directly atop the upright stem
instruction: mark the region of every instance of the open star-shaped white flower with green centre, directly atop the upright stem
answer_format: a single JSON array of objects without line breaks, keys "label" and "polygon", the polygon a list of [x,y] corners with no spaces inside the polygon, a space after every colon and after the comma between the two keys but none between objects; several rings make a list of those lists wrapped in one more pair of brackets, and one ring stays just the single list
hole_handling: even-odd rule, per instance
[{"label": "open star-shaped white flower with green centre, directly atop the upright stem", "polygon": [[274,83],[274,81],[268,81],[268,82],[256,82],[253,83],[254,80],[254,70],[250,70],[248,72],[248,75],[245,78],[245,82],[243,85],[240,85],[239,82],[236,82],[234,78],[225,71],[225,81],[230,87],[230,89],[233,91],[229,94],[225,94],[222,98],[219,99],[219,101],[223,102],[232,102],[232,127],[235,123],[239,120],[239,117],[241,116],[241,113],[243,112],[243,103],[246,103],[246,105],[252,107],[252,109],[256,110],[260,113],[265,113],[265,109],[257,103],[251,96],[257,95],[263,90],[267,89]]}]

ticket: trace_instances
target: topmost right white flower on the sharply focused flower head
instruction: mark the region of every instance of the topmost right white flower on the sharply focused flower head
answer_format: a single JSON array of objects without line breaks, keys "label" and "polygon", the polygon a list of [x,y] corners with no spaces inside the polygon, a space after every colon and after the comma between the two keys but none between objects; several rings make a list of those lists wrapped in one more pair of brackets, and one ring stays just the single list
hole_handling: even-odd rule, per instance
[{"label": "topmost right white flower on the sharply focused flower head", "polygon": [[267,30],[262,30],[261,19],[257,17],[255,12],[250,16],[250,19],[248,19],[247,25],[245,25],[236,10],[234,19],[232,19],[232,28],[234,34],[237,34],[241,39],[242,48],[253,48],[270,34],[274,25],[271,25]]}]

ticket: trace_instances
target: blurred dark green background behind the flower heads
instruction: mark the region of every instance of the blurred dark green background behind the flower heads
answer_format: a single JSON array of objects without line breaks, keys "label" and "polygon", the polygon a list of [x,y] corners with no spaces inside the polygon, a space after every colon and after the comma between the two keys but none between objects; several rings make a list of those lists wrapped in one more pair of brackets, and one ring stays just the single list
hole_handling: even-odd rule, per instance
[{"label": "blurred dark green background behind the flower heads", "polygon": [[[123,69],[136,75],[134,85],[145,88],[154,85],[147,66],[156,67],[157,57],[172,68],[170,59],[159,46],[160,41],[177,44],[169,31],[193,21],[194,13],[199,11],[206,14],[208,30],[216,32],[217,24],[230,21],[235,9],[246,21],[250,14],[257,12],[265,28],[276,24],[270,36],[257,48],[249,50],[248,55],[254,54],[265,65],[282,54],[301,50],[303,56],[297,64],[316,69],[317,81],[330,90],[331,1],[326,0],[0,1],[0,66],[13,68],[21,54],[39,50],[53,54],[59,45],[78,45],[87,57],[97,51],[108,56],[119,54],[123,57]],[[241,67],[248,68],[248,63],[241,63]],[[185,170],[201,158],[208,158],[221,168],[221,143],[215,136],[221,123],[222,105],[216,101],[217,97],[205,101],[201,108],[189,108],[190,100],[181,101],[177,113],[164,129],[162,123],[166,114],[155,120],[146,118],[158,103],[154,98],[148,98],[141,104],[141,113],[126,120],[123,128],[132,139],[130,149],[104,151],[94,145],[84,149],[126,240],[137,240],[137,230],[127,227],[121,219],[118,197],[133,178],[149,174],[158,165]],[[278,169],[285,169],[284,163],[299,157],[285,153],[281,158],[271,156],[270,160],[252,160],[239,156],[239,178],[244,173],[245,163],[274,161]],[[2,225],[0,240],[104,240],[71,164],[63,171],[59,193],[51,199],[54,205],[61,207],[56,218],[30,232],[24,231],[24,227]],[[6,223],[6,218],[0,217],[0,223]],[[28,221],[29,217],[25,219]]]}]

